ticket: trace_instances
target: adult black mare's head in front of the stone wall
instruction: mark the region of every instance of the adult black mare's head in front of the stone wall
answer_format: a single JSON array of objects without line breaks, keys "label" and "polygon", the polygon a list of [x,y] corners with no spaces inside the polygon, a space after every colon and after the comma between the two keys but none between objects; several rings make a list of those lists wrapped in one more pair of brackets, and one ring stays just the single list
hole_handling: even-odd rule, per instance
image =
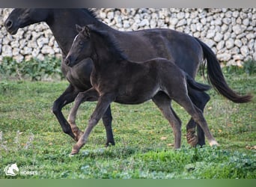
[{"label": "adult black mare's head in front of the stone wall", "polygon": [[10,34],[16,34],[19,28],[46,21],[50,9],[43,8],[15,8],[4,22]]}]

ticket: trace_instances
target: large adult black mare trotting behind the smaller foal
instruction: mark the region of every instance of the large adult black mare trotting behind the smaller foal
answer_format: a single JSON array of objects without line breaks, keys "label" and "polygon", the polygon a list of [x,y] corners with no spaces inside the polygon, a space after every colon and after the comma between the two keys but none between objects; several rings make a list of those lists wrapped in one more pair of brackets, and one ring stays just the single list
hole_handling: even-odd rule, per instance
[{"label": "large adult black mare trotting behind the smaller foal", "polygon": [[[119,46],[126,52],[129,59],[134,61],[144,61],[151,58],[162,57],[174,61],[178,67],[184,70],[189,76],[195,78],[198,67],[202,61],[207,61],[208,80],[213,88],[223,96],[233,102],[249,102],[251,96],[238,96],[231,90],[225,82],[219,61],[211,49],[195,37],[183,34],[171,29],[147,29],[141,31],[117,31],[108,25],[100,22],[94,12],[88,9],[14,9],[4,22],[10,34],[16,34],[19,28],[24,28],[37,22],[46,22],[52,30],[55,40],[62,51],[62,60],[66,57],[73,39],[77,34],[76,24],[87,25],[97,23],[100,28],[111,33]],[[143,46],[143,48],[139,47]],[[205,62],[205,61],[204,61]],[[77,94],[91,88],[90,74],[92,61],[90,58],[83,59],[76,67],[70,68],[61,63],[61,70],[66,76],[70,85],[55,100],[52,111],[61,124],[65,133],[77,140],[80,133],[76,124],[69,124],[61,112],[61,108],[76,98]],[[195,91],[190,96],[192,102],[204,111],[204,106],[210,99],[207,93]],[[115,144],[112,135],[112,115],[110,108],[103,116],[103,123],[106,127],[108,144]],[[72,126],[72,128],[70,127]],[[190,144],[195,144],[195,121],[190,120],[186,126],[187,140]],[[198,126],[198,144],[205,144],[204,132]]]}]

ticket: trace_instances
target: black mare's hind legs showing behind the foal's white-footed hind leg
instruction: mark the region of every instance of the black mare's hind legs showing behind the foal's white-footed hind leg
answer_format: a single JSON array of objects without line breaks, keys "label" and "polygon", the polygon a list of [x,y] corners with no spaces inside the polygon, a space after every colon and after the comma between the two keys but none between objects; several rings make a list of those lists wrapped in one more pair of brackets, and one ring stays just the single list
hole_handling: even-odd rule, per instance
[{"label": "black mare's hind legs showing behind the foal's white-footed hind leg", "polygon": [[[202,91],[189,90],[189,97],[192,102],[204,112],[204,107],[207,102],[210,100],[210,96]],[[195,135],[195,126],[197,126],[197,135]],[[186,140],[188,143],[194,147],[196,144],[203,146],[205,144],[204,131],[201,129],[195,120],[192,118],[189,120],[189,123],[186,125]]]}]

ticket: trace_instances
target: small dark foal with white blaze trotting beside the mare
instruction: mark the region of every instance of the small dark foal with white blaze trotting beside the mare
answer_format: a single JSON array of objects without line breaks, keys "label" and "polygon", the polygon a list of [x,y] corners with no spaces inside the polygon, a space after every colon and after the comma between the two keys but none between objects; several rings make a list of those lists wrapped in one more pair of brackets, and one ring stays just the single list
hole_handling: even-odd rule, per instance
[{"label": "small dark foal with white blaze trotting beside the mare", "polygon": [[[73,146],[71,155],[79,153],[88,136],[111,102],[121,104],[140,104],[152,99],[170,123],[174,132],[174,148],[180,148],[181,121],[171,108],[171,100],[180,104],[195,120],[210,143],[218,143],[211,135],[203,112],[189,98],[194,91],[207,91],[208,85],[195,82],[187,73],[180,70],[166,58],[153,58],[147,61],[129,61],[118,49],[115,38],[97,25],[77,25],[79,34],[75,37],[66,64],[74,67],[84,58],[91,58],[94,67],[91,73],[92,88],[79,93],[70,116],[76,117],[76,111],[82,101],[88,97],[98,99],[85,133]],[[141,46],[143,47],[143,46]],[[139,50],[139,49],[138,49]]]}]

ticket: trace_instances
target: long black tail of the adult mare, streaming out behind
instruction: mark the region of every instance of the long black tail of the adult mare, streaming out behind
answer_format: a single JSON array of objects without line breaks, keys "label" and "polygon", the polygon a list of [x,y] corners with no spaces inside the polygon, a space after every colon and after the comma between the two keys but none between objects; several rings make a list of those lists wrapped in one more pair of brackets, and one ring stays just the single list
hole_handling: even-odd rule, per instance
[{"label": "long black tail of the adult mare, streaming out behind", "polygon": [[[195,37],[195,40],[200,43],[203,52],[204,52],[204,59],[207,61],[207,79],[213,88],[218,91],[222,96],[225,96],[227,99],[237,102],[237,103],[244,103],[250,102],[252,100],[252,95],[247,94],[245,96],[238,95],[235,91],[229,88],[225,78],[222,74],[222,69],[219,65],[219,61],[216,58],[216,55],[213,51],[201,40]],[[204,63],[206,63],[204,61]],[[205,65],[205,64],[204,64]],[[204,66],[203,66],[204,69]],[[203,70],[204,71],[204,70]]]}]

